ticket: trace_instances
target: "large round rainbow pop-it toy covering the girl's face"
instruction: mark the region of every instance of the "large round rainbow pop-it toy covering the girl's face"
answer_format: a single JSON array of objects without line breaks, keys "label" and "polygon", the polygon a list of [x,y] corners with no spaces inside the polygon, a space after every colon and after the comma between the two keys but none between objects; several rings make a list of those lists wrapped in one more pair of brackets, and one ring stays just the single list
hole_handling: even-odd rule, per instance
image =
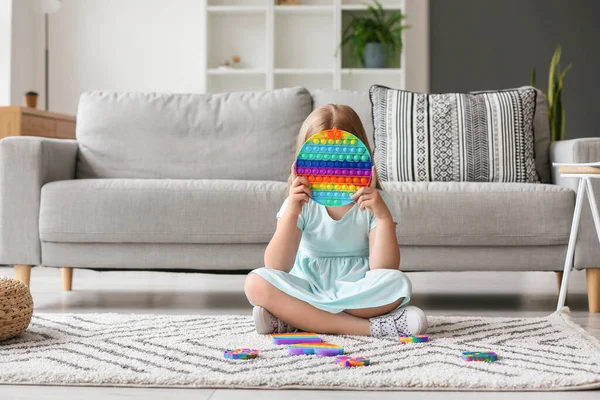
[{"label": "large round rainbow pop-it toy covering the girl's face", "polygon": [[308,180],[314,201],[338,207],[352,203],[350,197],[371,183],[372,166],[365,144],[334,127],[315,133],[302,145],[296,175]]}]

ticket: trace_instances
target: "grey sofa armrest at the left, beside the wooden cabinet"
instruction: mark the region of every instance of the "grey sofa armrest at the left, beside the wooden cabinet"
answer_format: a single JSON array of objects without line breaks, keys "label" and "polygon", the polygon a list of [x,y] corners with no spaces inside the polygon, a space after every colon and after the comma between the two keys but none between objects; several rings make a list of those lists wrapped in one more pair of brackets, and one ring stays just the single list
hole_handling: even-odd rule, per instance
[{"label": "grey sofa armrest at the left, beside the wooden cabinet", "polygon": [[77,141],[39,137],[0,140],[0,264],[41,264],[40,193],[75,178]]}]

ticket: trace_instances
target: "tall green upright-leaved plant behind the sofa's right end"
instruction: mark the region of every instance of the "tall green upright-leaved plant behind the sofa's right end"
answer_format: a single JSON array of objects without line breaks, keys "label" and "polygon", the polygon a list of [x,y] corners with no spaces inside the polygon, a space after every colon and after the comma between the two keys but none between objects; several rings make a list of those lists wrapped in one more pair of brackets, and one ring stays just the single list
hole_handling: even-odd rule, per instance
[{"label": "tall green upright-leaved plant behind the sofa's right end", "polygon": [[[561,45],[556,47],[550,61],[548,73],[548,122],[550,123],[550,140],[557,141],[565,138],[566,114],[562,102],[563,82],[567,72],[573,64],[567,65],[565,69],[560,66]],[[531,68],[531,86],[535,86],[535,66]]]}]

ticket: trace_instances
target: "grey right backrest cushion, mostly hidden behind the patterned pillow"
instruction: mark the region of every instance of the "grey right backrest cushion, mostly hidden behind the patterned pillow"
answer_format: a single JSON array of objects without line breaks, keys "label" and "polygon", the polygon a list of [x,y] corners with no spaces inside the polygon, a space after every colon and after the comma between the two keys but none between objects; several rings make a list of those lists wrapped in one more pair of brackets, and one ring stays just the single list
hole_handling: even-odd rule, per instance
[{"label": "grey right backrest cushion, mostly hidden behind the patterned pillow", "polygon": [[[550,128],[548,126],[548,107],[544,93],[538,89],[536,107],[533,116],[535,169],[542,183],[552,180],[550,172]],[[484,92],[473,92],[484,93]],[[363,122],[371,149],[373,147],[373,117],[369,94],[349,90],[317,90],[313,92],[313,108],[328,103],[348,105],[356,111]],[[374,149],[374,151],[377,151]]]}]

